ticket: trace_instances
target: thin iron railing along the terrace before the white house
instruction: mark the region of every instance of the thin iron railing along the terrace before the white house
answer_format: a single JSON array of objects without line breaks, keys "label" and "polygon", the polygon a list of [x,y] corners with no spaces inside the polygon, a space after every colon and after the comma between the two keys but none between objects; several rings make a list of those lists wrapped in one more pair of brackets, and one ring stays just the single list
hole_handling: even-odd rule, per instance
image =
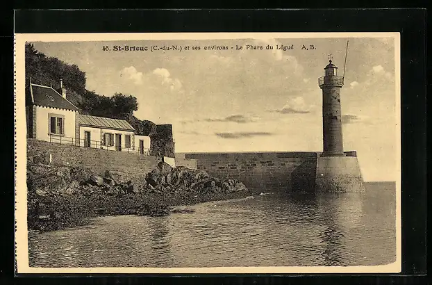
[{"label": "thin iron railing along the terrace before the white house", "polygon": [[60,145],[72,145],[74,147],[88,147],[92,149],[101,149],[106,151],[117,151],[117,152],[128,152],[142,155],[150,155],[150,149],[144,147],[140,149],[131,145],[131,147],[126,147],[126,145],[104,145],[103,142],[99,140],[86,140],[85,138],[72,138],[67,136],[58,136],[49,134],[50,143],[58,143]]}]

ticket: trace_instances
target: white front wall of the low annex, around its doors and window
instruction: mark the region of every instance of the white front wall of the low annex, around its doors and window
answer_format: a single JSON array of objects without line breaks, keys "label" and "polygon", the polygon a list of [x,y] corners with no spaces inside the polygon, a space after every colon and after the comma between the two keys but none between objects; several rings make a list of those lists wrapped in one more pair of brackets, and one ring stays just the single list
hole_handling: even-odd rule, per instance
[{"label": "white front wall of the low annex, around its doors and window", "polygon": [[[90,131],[90,140],[92,140],[91,142],[91,147],[95,147],[97,145],[97,148],[99,149],[108,149],[108,150],[116,150],[115,149],[115,134],[119,133],[122,135],[122,152],[138,152],[138,149],[135,148],[134,145],[134,140],[135,140],[135,134],[133,133],[133,131],[119,131],[119,130],[115,130],[115,129],[99,129],[99,128],[94,128],[94,127],[85,127],[85,126],[80,126],[79,127],[79,137],[80,137],[80,145],[81,147],[84,146],[84,132],[85,131]],[[102,145],[103,144],[103,137],[101,136],[102,133],[113,133],[114,135],[114,146],[113,147],[109,147],[109,146],[105,146]],[[131,136],[131,148],[130,149],[126,149],[126,140],[125,140],[125,136],[129,135]]]}]

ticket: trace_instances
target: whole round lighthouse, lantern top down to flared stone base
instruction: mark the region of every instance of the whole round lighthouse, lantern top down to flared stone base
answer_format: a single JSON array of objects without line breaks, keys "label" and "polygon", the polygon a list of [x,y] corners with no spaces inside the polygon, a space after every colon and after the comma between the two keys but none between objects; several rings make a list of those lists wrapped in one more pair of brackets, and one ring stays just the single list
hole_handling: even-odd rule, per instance
[{"label": "whole round lighthouse, lantern top down to flared stone base", "polygon": [[340,90],[344,77],[332,63],[324,67],[318,79],[322,89],[323,152],[317,158],[317,192],[358,192],[365,190],[355,151],[344,152]]}]

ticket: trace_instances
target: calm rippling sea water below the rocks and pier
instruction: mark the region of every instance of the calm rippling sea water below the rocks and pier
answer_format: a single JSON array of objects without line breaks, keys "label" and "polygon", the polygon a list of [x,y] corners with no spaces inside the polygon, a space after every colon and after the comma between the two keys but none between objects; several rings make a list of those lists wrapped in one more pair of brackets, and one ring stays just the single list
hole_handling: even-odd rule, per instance
[{"label": "calm rippling sea water below the rocks and pier", "polygon": [[[390,185],[390,186],[388,186]],[[374,266],[396,259],[394,184],[365,193],[269,195],[121,215],[29,233],[35,267]]]}]

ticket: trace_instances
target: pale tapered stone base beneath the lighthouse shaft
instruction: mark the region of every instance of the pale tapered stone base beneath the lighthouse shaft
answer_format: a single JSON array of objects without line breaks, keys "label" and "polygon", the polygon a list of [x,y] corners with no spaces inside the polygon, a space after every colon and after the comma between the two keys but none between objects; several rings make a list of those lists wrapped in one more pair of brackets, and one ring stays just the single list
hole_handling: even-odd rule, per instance
[{"label": "pale tapered stone base beneath the lighthouse shaft", "polygon": [[365,185],[357,156],[319,156],[315,185],[317,192],[364,191]]}]

